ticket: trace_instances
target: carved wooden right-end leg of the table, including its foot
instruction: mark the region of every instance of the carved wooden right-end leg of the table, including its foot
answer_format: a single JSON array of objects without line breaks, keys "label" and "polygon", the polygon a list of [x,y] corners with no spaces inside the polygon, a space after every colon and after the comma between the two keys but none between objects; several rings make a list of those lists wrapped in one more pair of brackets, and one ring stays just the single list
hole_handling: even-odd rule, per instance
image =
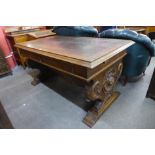
[{"label": "carved wooden right-end leg of the table, including its foot", "polygon": [[123,64],[119,62],[101,73],[87,86],[87,98],[94,102],[83,122],[92,127],[103,112],[117,99],[119,92],[114,87],[122,72]]}]

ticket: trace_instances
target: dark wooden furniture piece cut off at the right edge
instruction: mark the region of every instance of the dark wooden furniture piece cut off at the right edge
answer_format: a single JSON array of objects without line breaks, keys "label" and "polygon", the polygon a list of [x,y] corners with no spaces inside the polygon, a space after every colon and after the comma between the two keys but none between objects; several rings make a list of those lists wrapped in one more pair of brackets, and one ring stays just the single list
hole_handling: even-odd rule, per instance
[{"label": "dark wooden furniture piece cut off at the right edge", "polygon": [[152,74],[151,82],[150,82],[146,97],[149,97],[155,100],[155,69]]}]

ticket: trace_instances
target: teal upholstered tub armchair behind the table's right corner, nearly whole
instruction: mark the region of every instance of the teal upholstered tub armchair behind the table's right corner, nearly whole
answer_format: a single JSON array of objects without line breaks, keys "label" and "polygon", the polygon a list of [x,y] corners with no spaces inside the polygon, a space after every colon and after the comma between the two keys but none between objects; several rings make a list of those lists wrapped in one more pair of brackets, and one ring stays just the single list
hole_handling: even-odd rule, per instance
[{"label": "teal upholstered tub armchair behind the table's right corner, nearly whole", "polygon": [[155,46],[146,35],[138,34],[131,30],[111,29],[99,34],[100,38],[127,39],[135,42],[134,45],[126,49],[127,56],[124,59],[122,80],[136,81],[144,75],[150,59],[155,55]]}]

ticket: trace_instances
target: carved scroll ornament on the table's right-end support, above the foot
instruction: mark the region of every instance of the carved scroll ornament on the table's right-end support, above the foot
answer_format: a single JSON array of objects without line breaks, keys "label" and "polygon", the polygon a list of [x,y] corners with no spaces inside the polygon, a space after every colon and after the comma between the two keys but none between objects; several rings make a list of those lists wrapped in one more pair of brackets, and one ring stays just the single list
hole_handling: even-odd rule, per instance
[{"label": "carved scroll ornament on the table's right-end support, above the foot", "polygon": [[93,84],[87,88],[88,99],[92,101],[102,100],[102,102],[107,100],[113,92],[114,86],[120,77],[122,69],[123,63],[120,62],[106,70],[103,73],[104,75],[97,77]]}]

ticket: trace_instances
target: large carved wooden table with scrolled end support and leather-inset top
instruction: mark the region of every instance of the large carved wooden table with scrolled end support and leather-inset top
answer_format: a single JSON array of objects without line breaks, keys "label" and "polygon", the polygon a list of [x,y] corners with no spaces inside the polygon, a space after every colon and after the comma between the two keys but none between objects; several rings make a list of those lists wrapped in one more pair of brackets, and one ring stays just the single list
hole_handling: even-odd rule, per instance
[{"label": "large carved wooden table with scrolled end support and leather-inset top", "polygon": [[[85,88],[94,106],[83,119],[92,127],[119,96],[114,87],[122,72],[130,40],[52,36],[16,44],[19,55],[69,76]],[[39,82],[37,76],[32,84]]]}]

